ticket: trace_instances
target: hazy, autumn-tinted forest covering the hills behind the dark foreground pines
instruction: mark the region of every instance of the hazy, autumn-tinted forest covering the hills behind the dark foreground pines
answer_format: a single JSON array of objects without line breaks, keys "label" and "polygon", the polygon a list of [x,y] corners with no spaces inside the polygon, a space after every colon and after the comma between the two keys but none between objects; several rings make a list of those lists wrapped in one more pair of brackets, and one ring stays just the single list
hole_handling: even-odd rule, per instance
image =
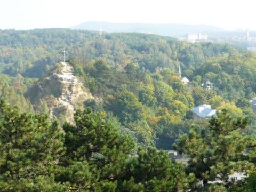
[{"label": "hazy, autumn-tinted forest covering the hills behind the dark foreground pines", "polygon": [[[149,34],[1,30],[0,96],[22,111],[49,114],[56,103],[48,106],[47,98],[55,97],[57,89],[44,79],[58,76],[64,49],[72,75],[83,82],[86,93],[99,98],[76,105],[107,111],[107,118],[141,146],[171,149],[194,123],[190,110],[203,103],[226,108],[234,116],[248,115],[250,126],[256,124],[250,107],[256,92],[253,53],[229,44],[188,43]],[[178,77],[179,65],[181,76],[190,81],[187,85]],[[202,86],[206,81],[213,89]],[[35,102],[33,90],[42,82],[42,95],[49,95]]]}]

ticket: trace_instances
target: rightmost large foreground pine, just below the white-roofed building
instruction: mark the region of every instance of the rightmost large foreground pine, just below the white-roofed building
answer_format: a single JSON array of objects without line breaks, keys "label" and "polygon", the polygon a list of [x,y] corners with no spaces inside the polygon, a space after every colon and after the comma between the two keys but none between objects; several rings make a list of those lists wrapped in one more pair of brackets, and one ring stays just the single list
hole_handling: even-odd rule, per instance
[{"label": "rightmost large foreground pine, just below the white-roofed building", "polygon": [[244,152],[250,138],[241,133],[246,129],[247,118],[230,116],[224,109],[210,120],[209,129],[193,127],[182,135],[175,148],[188,154],[188,172],[195,173],[204,186],[219,179],[229,185],[229,175],[234,171],[251,169]]}]

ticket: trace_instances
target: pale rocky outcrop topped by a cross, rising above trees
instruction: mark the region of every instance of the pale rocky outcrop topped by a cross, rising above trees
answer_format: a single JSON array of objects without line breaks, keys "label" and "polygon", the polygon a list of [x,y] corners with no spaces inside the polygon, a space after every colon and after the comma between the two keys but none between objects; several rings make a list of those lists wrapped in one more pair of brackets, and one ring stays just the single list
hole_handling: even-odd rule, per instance
[{"label": "pale rocky outcrop topped by a cross, rising above trees", "polygon": [[61,122],[71,123],[74,122],[75,109],[83,109],[85,100],[95,99],[85,90],[83,83],[74,75],[73,67],[67,62],[59,63],[27,95],[36,111],[42,113],[47,110],[50,117],[55,116]]}]

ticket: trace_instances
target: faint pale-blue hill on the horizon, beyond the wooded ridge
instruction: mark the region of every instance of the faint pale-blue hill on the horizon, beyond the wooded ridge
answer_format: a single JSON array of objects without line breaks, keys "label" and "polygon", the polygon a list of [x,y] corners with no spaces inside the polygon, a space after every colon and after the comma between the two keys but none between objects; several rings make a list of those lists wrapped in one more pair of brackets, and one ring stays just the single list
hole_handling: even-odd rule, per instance
[{"label": "faint pale-blue hill on the horizon, beyond the wooded ridge", "polygon": [[[72,29],[99,31],[101,22],[84,22],[71,27]],[[102,31],[112,32],[138,32],[152,33],[163,36],[183,36],[186,33],[216,33],[223,32],[224,29],[209,25],[183,25],[183,24],[150,24],[150,23],[110,23],[102,22]]]}]

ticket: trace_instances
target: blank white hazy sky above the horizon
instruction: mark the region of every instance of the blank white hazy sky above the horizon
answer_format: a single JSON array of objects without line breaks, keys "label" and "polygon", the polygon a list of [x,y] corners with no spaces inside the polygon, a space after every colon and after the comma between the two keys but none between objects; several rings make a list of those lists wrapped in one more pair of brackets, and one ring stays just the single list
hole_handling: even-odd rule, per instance
[{"label": "blank white hazy sky above the horizon", "polygon": [[0,0],[0,28],[71,27],[85,21],[108,21],[256,30],[255,5],[255,0]]}]

